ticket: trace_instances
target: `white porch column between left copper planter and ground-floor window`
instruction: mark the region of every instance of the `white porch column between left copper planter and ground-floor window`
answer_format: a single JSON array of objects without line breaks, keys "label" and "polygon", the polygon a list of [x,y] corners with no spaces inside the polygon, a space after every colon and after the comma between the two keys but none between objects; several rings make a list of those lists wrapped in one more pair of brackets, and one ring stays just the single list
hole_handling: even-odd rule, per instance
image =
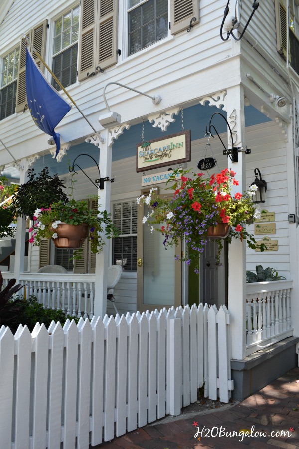
[{"label": "white porch column between left copper planter and ground-floor window", "polygon": [[[99,144],[100,161],[99,167],[101,177],[109,176],[111,178],[112,148],[109,147],[109,132],[107,129],[101,131],[101,137],[104,142]],[[99,190],[98,209],[99,211],[110,212],[110,192],[111,182],[104,183],[104,189]],[[103,246],[103,251],[96,255],[95,272],[95,307],[94,315],[104,317],[107,311],[107,269],[109,264],[109,240]]]}]

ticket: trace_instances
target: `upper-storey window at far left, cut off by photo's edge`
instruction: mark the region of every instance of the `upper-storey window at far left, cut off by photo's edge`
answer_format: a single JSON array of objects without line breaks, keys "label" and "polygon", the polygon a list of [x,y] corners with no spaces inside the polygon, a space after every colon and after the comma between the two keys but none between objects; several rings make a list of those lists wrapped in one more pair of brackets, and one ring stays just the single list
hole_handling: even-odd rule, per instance
[{"label": "upper-storey window at far left, cut off by photo's edge", "polygon": [[2,58],[0,120],[15,112],[18,64],[19,48],[15,48]]}]

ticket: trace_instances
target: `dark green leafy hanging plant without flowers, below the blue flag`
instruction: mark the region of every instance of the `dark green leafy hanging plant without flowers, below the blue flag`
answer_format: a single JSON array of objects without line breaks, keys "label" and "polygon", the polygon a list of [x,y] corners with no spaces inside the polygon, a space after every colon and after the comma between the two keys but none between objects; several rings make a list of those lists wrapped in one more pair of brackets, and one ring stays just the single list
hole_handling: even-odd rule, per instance
[{"label": "dark green leafy hanging plant without flowers, below the blue flag", "polygon": [[21,184],[12,200],[17,215],[32,219],[36,209],[47,208],[59,200],[67,201],[64,184],[57,174],[50,176],[48,167],[38,175],[34,168],[28,170],[28,181]]}]

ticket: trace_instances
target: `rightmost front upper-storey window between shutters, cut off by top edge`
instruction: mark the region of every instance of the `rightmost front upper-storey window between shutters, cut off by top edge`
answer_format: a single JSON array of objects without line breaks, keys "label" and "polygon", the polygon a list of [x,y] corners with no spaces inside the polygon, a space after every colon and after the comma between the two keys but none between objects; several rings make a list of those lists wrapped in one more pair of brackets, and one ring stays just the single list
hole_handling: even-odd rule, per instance
[{"label": "rightmost front upper-storey window between shutters, cut off by top edge", "polygon": [[128,0],[128,55],[168,35],[168,0]]}]

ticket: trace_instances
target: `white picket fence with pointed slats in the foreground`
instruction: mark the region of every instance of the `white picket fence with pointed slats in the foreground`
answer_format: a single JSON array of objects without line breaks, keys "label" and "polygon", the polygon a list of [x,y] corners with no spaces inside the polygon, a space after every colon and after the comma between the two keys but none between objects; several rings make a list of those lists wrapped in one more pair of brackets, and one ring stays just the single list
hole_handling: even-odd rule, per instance
[{"label": "white picket fence with pointed slats in the foreground", "polygon": [[0,447],[87,449],[205,396],[228,402],[229,313],[200,304],[0,329]]}]

